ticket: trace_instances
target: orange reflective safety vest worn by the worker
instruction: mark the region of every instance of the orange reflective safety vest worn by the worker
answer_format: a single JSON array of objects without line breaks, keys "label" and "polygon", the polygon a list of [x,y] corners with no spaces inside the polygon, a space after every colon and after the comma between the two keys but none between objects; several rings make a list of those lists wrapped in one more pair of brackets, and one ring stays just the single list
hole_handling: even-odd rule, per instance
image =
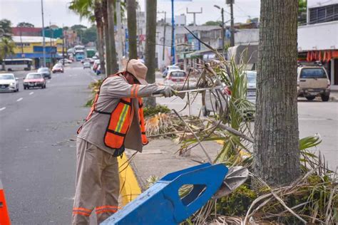
[{"label": "orange reflective safety vest worn by the worker", "polygon": [[[104,82],[104,80],[103,80]],[[101,87],[100,87],[101,88]],[[91,118],[93,112],[108,114],[111,115],[108,126],[106,129],[106,133],[104,135],[104,143],[107,147],[111,147],[113,149],[120,149],[123,147],[124,140],[126,138],[126,134],[131,125],[131,118],[133,105],[131,103],[132,98],[121,98],[116,105],[116,108],[113,112],[101,112],[96,110],[96,102],[98,100],[98,95],[100,94],[100,90],[96,94],[93,105],[91,106],[91,112],[89,112],[86,117],[86,121]],[[142,98],[138,98],[138,118],[140,120],[140,131],[141,131],[141,140],[143,145],[148,144],[148,139],[145,136],[145,120],[143,117],[143,102]],[[78,129],[78,133],[81,131],[81,127]]]}]

